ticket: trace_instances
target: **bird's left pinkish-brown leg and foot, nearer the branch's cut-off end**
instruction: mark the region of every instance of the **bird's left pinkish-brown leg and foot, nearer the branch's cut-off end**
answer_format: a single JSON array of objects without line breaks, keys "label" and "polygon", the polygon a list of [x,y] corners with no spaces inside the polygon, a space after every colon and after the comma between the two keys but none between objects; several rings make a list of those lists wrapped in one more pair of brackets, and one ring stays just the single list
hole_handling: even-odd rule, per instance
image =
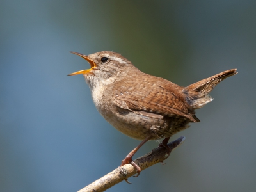
[{"label": "bird's left pinkish-brown leg and foot, nearer the branch's cut-off end", "polygon": [[[121,166],[125,165],[125,164],[131,164],[136,170],[137,170],[137,175],[134,177],[138,177],[140,175],[141,172],[141,168],[140,166],[138,166],[138,164],[134,163],[134,161],[132,160],[132,156],[134,156],[134,154],[139,150],[139,148],[144,145],[148,140],[150,140],[152,138],[152,136],[147,136],[147,138],[145,138],[145,140],[143,140],[140,145],[138,145],[136,148],[134,148],[134,150],[132,150],[131,152],[129,152],[129,154],[124,158],[124,160],[121,163]],[[126,182],[128,182],[127,179],[125,179]]]}]

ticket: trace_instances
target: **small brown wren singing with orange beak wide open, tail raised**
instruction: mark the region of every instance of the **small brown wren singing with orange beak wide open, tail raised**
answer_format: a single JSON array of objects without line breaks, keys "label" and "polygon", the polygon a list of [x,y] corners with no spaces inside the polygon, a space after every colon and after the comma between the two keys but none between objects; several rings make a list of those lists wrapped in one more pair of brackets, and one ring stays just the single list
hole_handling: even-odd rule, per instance
[{"label": "small brown wren singing with orange beak wide open, tail raised", "polygon": [[159,147],[166,148],[168,157],[170,136],[186,129],[190,122],[200,122],[195,109],[213,100],[208,94],[220,81],[237,74],[236,69],[226,70],[182,87],[141,72],[116,52],[102,51],[88,56],[71,53],[87,60],[91,68],[68,76],[83,74],[99,113],[118,131],[143,140],[121,164],[131,163],[137,170],[136,177],[141,169],[132,156],[138,149],[148,140],[164,138]]}]

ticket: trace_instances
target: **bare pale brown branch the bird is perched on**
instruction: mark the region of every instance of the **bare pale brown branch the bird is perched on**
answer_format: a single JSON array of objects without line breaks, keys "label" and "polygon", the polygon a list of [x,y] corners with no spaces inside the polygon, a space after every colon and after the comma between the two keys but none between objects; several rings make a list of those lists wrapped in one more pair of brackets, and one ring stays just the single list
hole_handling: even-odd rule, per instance
[{"label": "bare pale brown branch the bird is perched on", "polygon": [[[179,147],[185,140],[184,136],[181,136],[175,141],[172,141],[168,144],[171,150]],[[146,154],[145,156],[139,157],[135,159],[134,162],[138,164],[141,170],[145,170],[146,168],[152,166],[153,164],[164,161],[166,156],[166,148],[160,147],[155,148],[152,152]],[[118,184],[122,180],[125,180],[132,175],[136,174],[136,170],[131,164],[125,164],[124,166],[119,166],[113,172],[108,173],[104,177],[101,177],[95,182],[92,182],[90,185],[85,188],[79,190],[78,192],[88,192],[88,191],[106,191],[106,189],[111,188],[115,184]]]}]

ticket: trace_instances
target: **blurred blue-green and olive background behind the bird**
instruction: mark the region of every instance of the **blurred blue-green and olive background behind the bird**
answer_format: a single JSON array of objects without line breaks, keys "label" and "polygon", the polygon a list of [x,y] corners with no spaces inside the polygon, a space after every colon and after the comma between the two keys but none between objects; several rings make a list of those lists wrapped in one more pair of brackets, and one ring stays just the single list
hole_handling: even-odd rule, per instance
[{"label": "blurred blue-green and olive background behind the bird", "polygon": [[[78,191],[140,141],[99,115],[68,51],[121,53],[181,86],[237,68],[186,141],[109,191],[254,191],[256,1],[1,1],[0,191]],[[150,141],[140,157],[158,143]]]}]

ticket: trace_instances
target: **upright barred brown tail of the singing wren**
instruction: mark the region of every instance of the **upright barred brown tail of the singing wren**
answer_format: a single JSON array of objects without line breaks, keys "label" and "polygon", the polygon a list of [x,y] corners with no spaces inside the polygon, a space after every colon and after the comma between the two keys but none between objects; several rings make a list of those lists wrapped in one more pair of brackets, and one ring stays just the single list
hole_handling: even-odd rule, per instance
[{"label": "upright barred brown tail of the singing wren", "polygon": [[222,80],[236,74],[236,69],[230,69],[186,86],[183,90],[183,92],[186,94],[186,101],[193,109],[202,108],[202,106],[213,100],[208,95],[213,88]]}]

